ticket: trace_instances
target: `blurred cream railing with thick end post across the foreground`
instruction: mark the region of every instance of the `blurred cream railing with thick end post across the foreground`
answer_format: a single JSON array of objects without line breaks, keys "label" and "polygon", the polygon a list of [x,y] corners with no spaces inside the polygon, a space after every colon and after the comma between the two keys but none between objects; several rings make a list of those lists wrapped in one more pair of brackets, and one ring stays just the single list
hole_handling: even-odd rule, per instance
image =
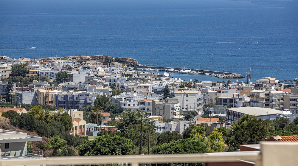
[{"label": "blurred cream railing with thick end post across the foreground", "polygon": [[222,152],[205,154],[72,156],[45,159],[1,160],[0,166],[10,165],[95,165],[128,163],[131,166],[151,163],[241,162],[257,166],[297,165],[298,143],[262,142],[261,151]]}]

